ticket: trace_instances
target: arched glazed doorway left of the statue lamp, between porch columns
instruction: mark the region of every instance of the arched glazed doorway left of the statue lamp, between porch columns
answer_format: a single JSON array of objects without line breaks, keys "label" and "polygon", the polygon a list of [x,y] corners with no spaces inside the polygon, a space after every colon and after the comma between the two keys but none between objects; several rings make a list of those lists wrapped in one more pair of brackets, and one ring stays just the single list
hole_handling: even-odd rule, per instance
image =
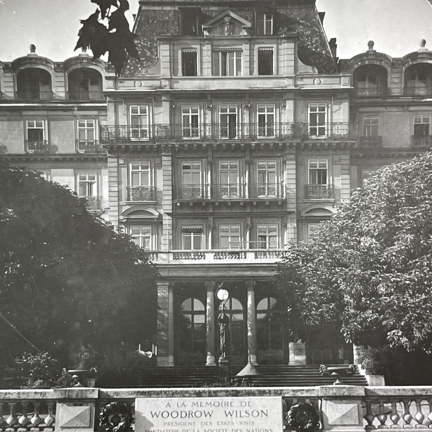
[{"label": "arched glazed doorway left of the statue lamp, between porch columns", "polygon": [[190,297],[181,303],[178,333],[178,364],[202,365],[206,350],[206,309]]}]

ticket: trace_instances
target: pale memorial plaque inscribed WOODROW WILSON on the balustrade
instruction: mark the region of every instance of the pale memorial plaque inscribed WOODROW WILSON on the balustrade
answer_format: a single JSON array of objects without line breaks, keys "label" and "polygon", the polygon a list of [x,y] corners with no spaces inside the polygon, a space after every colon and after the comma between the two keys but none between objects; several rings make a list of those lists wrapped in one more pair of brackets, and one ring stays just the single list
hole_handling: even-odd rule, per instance
[{"label": "pale memorial plaque inscribed WOODROW WILSON on the balustrade", "polygon": [[137,398],[135,432],[280,432],[282,397]]}]

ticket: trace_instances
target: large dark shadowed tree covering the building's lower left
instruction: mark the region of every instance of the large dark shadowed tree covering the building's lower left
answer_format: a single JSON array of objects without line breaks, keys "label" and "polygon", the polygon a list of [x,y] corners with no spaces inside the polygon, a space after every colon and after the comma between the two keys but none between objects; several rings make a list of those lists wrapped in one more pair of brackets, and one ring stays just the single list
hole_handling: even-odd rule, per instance
[{"label": "large dark shadowed tree covering the building's lower left", "polygon": [[[155,270],[145,252],[66,187],[1,159],[0,184],[2,316],[66,366],[82,345],[102,362],[152,339]],[[0,322],[3,355],[31,349]]]}]

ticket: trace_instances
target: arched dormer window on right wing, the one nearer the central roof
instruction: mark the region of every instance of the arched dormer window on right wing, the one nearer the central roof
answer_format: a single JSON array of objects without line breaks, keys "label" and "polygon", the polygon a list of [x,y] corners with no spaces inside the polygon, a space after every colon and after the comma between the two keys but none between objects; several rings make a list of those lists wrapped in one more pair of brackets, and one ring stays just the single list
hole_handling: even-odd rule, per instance
[{"label": "arched dormer window on right wing, the one nearer the central roof", "polygon": [[385,96],[387,94],[387,69],[378,64],[365,64],[354,72],[357,96]]}]

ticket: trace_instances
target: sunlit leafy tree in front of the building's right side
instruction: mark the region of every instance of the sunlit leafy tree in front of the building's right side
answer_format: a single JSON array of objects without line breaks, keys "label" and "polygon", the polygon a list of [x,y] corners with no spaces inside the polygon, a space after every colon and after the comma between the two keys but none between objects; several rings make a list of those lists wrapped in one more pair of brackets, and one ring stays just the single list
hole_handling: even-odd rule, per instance
[{"label": "sunlit leafy tree in front of the building's right side", "polygon": [[430,353],[431,220],[432,152],[378,170],[280,264],[276,284],[297,325]]}]

